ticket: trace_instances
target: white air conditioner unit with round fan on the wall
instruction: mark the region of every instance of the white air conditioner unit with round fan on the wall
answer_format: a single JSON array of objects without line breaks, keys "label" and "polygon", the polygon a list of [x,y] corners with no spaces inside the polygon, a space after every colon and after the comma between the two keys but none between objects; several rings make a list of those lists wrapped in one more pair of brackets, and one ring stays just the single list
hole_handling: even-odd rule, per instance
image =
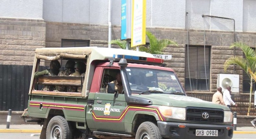
[{"label": "white air conditioner unit with round fan on the wall", "polygon": [[217,87],[225,91],[227,86],[231,86],[231,91],[239,92],[239,75],[238,74],[218,74]]}]

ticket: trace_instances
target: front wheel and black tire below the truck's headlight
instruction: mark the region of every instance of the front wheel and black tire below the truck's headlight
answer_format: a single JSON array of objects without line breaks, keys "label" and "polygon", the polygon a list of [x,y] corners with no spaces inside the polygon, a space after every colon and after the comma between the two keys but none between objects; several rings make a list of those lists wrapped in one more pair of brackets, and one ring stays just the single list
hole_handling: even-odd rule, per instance
[{"label": "front wheel and black tire below the truck's headlight", "polygon": [[135,139],[162,139],[158,127],[152,122],[143,122],[138,127]]}]

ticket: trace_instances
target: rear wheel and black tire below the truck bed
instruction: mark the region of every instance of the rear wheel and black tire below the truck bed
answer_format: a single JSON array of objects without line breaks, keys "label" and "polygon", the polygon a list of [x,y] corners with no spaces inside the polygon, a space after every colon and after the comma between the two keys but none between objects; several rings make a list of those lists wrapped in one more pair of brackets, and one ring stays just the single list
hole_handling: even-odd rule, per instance
[{"label": "rear wheel and black tire below the truck bed", "polygon": [[46,139],[71,139],[72,132],[66,119],[62,116],[54,116],[49,121],[46,129]]}]

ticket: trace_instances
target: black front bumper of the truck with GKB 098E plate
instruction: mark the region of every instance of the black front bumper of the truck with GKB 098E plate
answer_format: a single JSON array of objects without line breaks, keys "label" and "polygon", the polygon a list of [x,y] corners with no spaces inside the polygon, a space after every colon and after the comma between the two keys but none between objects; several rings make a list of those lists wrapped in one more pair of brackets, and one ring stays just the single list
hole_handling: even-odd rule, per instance
[{"label": "black front bumper of the truck with GKB 098E plate", "polygon": [[[231,125],[212,125],[194,123],[172,123],[157,121],[160,134],[164,138],[171,139],[231,139],[233,136],[233,126]],[[185,127],[180,128],[179,125]],[[227,127],[230,129],[227,130]],[[196,129],[218,130],[218,136],[196,136]]]}]

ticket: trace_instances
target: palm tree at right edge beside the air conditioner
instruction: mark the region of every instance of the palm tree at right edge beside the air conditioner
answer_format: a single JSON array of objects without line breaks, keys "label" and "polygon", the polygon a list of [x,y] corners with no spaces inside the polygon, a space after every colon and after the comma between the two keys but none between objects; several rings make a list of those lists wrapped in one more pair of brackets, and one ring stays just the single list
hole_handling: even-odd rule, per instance
[{"label": "palm tree at right edge beside the air conditioner", "polygon": [[[248,45],[241,42],[234,42],[230,48],[238,47],[241,48],[245,54],[245,58],[241,56],[232,56],[226,60],[224,63],[224,70],[227,71],[227,68],[231,64],[236,64],[240,66],[249,76],[250,78],[250,99],[249,99],[249,108],[247,115],[250,114],[250,106],[251,106],[251,94],[252,94],[252,85],[253,85],[253,74],[256,74],[256,54],[255,50],[250,48]],[[255,95],[255,94],[254,94]]]}]

